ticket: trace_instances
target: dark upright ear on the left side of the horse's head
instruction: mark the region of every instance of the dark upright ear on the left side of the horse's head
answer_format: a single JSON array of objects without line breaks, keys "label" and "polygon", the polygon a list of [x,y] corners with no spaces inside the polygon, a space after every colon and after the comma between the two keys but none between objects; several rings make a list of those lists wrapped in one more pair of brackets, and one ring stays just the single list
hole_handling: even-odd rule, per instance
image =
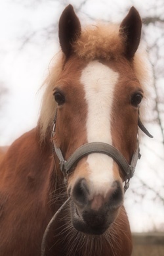
[{"label": "dark upright ear on the left side of the horse's head", "polygon": [[72,5],[64,9],[58,25],[58,37],[62,51],[69,57],[72,53],[72,43],[81,34],[81,24],[77,18]]}]

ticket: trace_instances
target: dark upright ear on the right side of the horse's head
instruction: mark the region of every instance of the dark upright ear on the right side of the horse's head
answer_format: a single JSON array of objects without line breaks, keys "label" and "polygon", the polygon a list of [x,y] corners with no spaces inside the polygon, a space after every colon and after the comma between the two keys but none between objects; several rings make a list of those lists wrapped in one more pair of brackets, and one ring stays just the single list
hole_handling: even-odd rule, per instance
[{"label": "dark upright ear on the right side of the horse's head", "polygon": [[140,43],[142,20],[134,7],[121,22],[119,32],[125,37],[125,56],[127,59],[134,57]]}]

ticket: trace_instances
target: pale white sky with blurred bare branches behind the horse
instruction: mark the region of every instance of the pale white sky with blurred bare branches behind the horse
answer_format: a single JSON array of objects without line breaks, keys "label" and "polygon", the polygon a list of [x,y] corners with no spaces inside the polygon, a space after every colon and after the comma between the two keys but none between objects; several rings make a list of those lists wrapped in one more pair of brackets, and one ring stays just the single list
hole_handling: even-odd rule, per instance
[{"label": "pale white sky with blurred bare branches behind the horse", "polygon": [[37,124],[41,84],[60,49],[58,19],[69,3],[82,24],[121,22],[133,5],[142,17],[142,40],[153,74],[145,124],[154,139],[142,136],[142,158],[125,195],[125,207],[133,232],[164,232],[163,0],[1,0],[0,145],[10,145]]}]

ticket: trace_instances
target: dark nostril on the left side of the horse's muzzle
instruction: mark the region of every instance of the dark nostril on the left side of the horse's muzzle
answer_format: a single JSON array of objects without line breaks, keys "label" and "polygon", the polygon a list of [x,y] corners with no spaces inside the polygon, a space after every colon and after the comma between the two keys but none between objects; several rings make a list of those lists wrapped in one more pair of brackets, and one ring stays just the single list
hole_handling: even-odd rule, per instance
[{"label": "dark nostril on the left side of the horse's muzzle", "polygon": [[88,202],[89,188],[84,178],[77,180],[72,190],[72,198],[76,205],[83,207]]}]

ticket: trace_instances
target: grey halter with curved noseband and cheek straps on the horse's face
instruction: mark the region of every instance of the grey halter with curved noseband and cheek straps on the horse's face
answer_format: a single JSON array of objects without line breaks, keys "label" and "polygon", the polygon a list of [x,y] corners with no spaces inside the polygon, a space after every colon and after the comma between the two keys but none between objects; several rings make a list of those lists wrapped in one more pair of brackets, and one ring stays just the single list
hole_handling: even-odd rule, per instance
[{"label": "grey halter with curved noseband and cheek straps on the horse's face", "polygon": [[[134,170],[136,168],[136,163],[138,159],[140,159],[140,149],[139,149],[139,141],[137,139],[136,143],[136,150],[133,153],[133,157],[131,159],[131,163],[127,163],[127,160],[123,155],[112,145],[104,142],[91,142],[91,143],[86,143],[76,149],[74,153],[69,157],[69,159],[66,161],[62,155],[62,151],[59,147],[56,147],[56,144],[54,143],[53,137],[55,134],[55,126],[56,126],[56,117],[57,117],[57,111],[56,115],[54,117],[54,123],[52,127],[52,133],[51,133],[51,138],[52,138],[52,149],[53,152],[56,153],[59,163],[60,163],[60,170],[64,174],[64,178],[70,173],[71,169],[73,166],[75,166],[80,159],[83,157],[91,154],[91,153],[103,153],[106,154],[119,165],[121,170],[123,171],[123,174],[125,175],[125,186],[124,190],[126,191],[129,188],[129,181],[133,177]],[[138,127],[144,132],[147,136],[150,138],[153,138],[153,136],[146,130],[144,124],[142,124],[140,117],[139,117],[139,111],[138,111]]]}]

